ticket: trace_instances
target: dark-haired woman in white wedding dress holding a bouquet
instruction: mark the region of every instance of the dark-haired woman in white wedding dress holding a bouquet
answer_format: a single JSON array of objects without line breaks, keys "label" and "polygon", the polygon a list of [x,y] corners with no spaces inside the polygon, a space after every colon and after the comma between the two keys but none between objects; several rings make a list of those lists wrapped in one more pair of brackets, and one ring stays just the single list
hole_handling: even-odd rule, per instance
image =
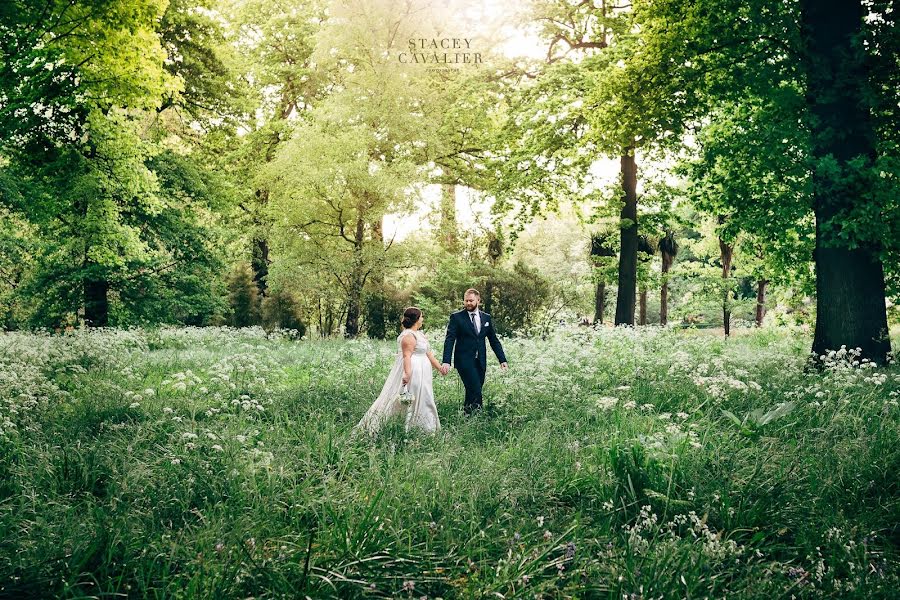
[{"label": "dark-haired woman in white wedding dress holding a bouquet", "polygon": [[[434,404],[431,373],[432,369],[440,371],[441,365],[432,354],[425,335],[419,331],[424,321],[422,311],[414,306],[403,312],[403,331],[397,337],[400,345],[397,359],[381,393],[366,411],[357,429],[375,433],[384,421],[404,412],[407,431],[416,427],[432,433],[441,428]],[[408,405],[403,404],[399,397],[401,392],[407,390],[412,397]]]}]

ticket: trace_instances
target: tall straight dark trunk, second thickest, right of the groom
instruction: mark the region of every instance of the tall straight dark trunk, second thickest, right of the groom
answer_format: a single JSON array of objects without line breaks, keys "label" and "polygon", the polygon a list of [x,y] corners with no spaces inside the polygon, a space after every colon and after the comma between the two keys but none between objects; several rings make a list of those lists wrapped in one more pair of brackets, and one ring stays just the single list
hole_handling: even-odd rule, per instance
[{"label": "tall straight dark trunk, second thickest, right of the groom", "polygon": [[637,287],[637,164],[634,148],[625,149],[620,159],[625,203],[620,216],[619,288],[616,294],[616,325],[634,325]]}]

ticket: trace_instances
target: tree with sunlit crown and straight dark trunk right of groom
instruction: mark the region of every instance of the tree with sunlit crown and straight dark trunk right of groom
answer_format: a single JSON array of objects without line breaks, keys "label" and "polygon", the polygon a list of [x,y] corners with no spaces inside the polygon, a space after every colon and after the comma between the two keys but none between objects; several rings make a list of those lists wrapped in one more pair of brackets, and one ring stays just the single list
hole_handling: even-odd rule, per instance
[{"label": "tree with sunlit crown and straight dark trunk right of groom", "polygon": [[615,322],[634,324],[637,152],[675,144],[691,105],[656,84],[667,67],[643,56],[642,12],[611,2],[536,1],[533,7],[532,20],[549,43],[548,66],[535,67],[535,84],[510,111],[505,139],[515,145],[503,154],[501,198],[516,190],[520,214],[530,218],[590,187],[596,159],[618,156],[620,198],[602,210],[618,209],[619,217]]}]

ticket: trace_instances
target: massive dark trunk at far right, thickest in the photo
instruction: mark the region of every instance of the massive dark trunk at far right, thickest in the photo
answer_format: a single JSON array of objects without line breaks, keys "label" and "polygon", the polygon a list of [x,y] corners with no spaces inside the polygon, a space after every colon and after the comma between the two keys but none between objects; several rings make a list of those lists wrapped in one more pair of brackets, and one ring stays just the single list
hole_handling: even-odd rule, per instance
[{"label": "massive dark trunk at far right, thickest in the photo", "polygon": [[[859,210],[859,168],[849,162],[875,159],[868,106],[868,72],[861,46],[867,9],[860,0],[801,0],[801,26],[808,42],[807,104],[814,119],[813,157],[831,161],[813,169],[816,215],[816,329],[812,351],[846,345],[883,363],[891,351],[887,335],[884,269],[873,242],[850,249],[836,232],[843,211]],[[820,163],[821,164],[821,163]],[[860,212],[864,212],[860,210]]]}]

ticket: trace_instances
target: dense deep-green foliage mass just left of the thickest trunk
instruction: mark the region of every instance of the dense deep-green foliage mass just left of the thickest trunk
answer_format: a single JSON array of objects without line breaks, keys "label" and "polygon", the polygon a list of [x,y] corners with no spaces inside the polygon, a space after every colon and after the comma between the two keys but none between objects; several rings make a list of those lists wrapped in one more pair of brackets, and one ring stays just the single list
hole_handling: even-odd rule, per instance
[{"label": "dense deep-green foliage mass just left of the thickest trunk", "polygon": [[796,127],[801,100],[791,90],[764,107],[727,105],[703,128],[697,158],[679,168],[692,206],[726,217],[726,238],[764,239],[760,275],[786,284],[808,278],[814,245],[808,172],[797,160],[808,143]]}]

